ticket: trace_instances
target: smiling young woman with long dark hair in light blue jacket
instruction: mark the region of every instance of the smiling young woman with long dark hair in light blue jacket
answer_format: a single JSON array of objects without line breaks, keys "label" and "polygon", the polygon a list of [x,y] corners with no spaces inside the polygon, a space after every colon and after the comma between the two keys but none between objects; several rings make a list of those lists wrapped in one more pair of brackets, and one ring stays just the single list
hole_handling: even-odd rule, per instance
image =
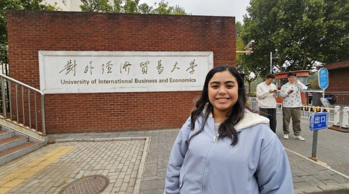
[{"label": "smiling young woman with long dark hair in light blue jacket", "polygon": [[164,194],[293,194],[286,152],[235,68],[211,69],[175,139]]}]

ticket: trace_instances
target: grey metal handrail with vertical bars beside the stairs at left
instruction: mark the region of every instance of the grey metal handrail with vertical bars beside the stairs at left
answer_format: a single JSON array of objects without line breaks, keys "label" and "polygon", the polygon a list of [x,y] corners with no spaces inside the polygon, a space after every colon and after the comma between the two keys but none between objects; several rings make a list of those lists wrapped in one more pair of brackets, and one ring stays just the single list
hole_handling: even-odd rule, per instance
[{"label": "grey metal handrail with vertical bars beside the stairs at left", "polygon": [[[21,92],[22,92],[22,113],[23,113],[23,123],[22,124],[25,124],[25,116],[24,116],[24,91],[23,91],[23,87],[28,89],[28,108],[29,108],[29,127],[31,128],[31,116],[30,116],[30,90],[34,92],[34,103],[35,103],[35,130],[37,130],[37,110],[36,110],[36,96],[35,94],[38,93],[40,94],[40,97],[41,97],[41,124],[42,124],[42,133],[43,134],[46,134],[46,128],[45,128],[45,99],[44,99],[44,93],[41,92],[40,90],[37,90],[31,86],[28,86],[24,83],[21,83],[17,80],[14,80],[8,76],[5,76],[3,74],[0,74],[0,78],[1,78],[1,99],[2,99],[2,112],[3,112],[3,116],[4,117],[7,117],[7,113],[6,113],[6,97],[5,97],[5,81],[4,80],[8,80],[12,83],[14,83],[14,86],[15,86],[15,99],[16,99],[16,116],[17,116],[17,122],[19,122],[19,116],[18,116],[18,90],[17,90],[17,86],[21,86]],[[10,90],[11,90],[11,87],[10,87],[10,84],[8,84],[8,93],[7,94],[11,94],[10,93]],[[8,99],[10,101],[10,112],[12,111],[12,104],[11,104],[11,97],[8,96]],[[10,114],[10,118],[12,119],[12,112]]]}]

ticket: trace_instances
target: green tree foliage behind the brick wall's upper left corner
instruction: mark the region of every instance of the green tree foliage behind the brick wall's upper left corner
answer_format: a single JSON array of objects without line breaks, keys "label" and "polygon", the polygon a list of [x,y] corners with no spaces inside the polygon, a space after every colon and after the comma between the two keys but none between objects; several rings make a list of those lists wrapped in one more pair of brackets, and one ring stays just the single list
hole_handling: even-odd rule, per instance
[{"label": "green tree foliage behind the brick wall's upper left corner", "polygon": [[7,47],[6,10],[58,10],[55,5],[50,5],[43,0],[0,0],[0,48]]}]

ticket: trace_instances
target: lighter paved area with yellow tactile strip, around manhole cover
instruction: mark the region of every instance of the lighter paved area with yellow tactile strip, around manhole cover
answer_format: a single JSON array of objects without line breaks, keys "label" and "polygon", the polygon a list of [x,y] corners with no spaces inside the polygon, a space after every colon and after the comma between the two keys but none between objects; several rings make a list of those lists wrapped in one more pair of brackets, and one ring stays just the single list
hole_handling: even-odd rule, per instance
[{"label": "lighter paved area with yellow tactile strip, around manhole cover", "polygon": [[89,175],[109,178],[103,194],[133,194],[146,140],[101,140],[49,144],[0,166],[0,194],[58,194]]}]

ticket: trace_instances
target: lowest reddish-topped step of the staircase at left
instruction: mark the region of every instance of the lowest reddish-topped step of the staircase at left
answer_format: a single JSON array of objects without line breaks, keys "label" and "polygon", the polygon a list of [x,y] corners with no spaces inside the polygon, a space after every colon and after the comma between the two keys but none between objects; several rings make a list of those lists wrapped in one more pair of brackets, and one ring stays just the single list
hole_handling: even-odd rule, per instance
[{"label": "lowest reddish-topped step of the staircase at left", "polygon": [[40,148],[39,142],[27,142],[19,146],[0,152],[0,165],[3,165],[11,160],[19,158],[31,151]]}]

